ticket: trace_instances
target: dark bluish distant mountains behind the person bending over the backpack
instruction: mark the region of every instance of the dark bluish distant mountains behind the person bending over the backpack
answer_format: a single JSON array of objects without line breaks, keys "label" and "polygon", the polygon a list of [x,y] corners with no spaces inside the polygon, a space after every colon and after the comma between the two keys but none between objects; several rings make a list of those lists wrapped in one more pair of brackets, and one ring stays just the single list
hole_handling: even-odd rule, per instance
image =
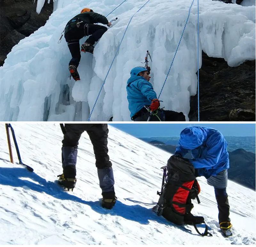
[{"label": "dark bluish distant mountains behind the person bending over the backpack", "polygon": [[[176,146],[166,145],[158,140],[151,140],[148,143],[171,154],[174,154],[176,150]],[[230,162],[228,179],[255,190],[255,153],[247,152],[243,148],[238,148],[232,152],[228,151],[228,153]],[[190,153],[185,157],[192,158]]]}]

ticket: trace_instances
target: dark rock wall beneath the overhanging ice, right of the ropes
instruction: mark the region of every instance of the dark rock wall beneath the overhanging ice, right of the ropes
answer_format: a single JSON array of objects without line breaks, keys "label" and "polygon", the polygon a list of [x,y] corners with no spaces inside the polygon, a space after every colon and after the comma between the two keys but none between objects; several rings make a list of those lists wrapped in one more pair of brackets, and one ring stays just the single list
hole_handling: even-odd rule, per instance
[{"label": "dark rock wall beneath the overhanging ice, right of the ropes", "polygon": [[[200,121],[255,121],[255,60],[229,67],[202,56],[199,69]],[[190,121],[198,120],[197,94],[190,97]]]}]

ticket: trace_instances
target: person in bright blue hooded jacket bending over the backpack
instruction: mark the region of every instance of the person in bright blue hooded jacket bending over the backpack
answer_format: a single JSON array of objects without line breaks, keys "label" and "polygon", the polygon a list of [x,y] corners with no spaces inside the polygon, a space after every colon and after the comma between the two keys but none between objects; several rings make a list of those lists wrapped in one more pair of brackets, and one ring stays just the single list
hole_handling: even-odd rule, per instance
[{"label": "person in bright blue hooded jacket bending over the backpack", "polygon": [[215,129],[203,126],[185,128],[180,133],[179,146],[175,154],[184,157],[190,150],[189,161],[196,170],[196,177],[204,176],[214,187],[219,209],[220,229],[225,236],[232,235],[227,194],[229,158],[227,141]]}]

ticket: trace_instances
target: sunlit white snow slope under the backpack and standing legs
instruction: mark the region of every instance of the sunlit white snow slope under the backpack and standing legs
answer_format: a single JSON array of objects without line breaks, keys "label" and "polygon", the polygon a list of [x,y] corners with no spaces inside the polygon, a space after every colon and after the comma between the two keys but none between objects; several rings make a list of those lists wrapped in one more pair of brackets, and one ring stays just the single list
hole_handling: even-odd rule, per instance
[{"label": "sunlit white snow slope under the backpack and standing legs", "polygon": [[[59,124],[13,123],[22,161],[12,145],[10,163],[5,126],[0,124],[0,244],[198,244],[255,245],[255,191],[228,181],[234,235],[219,232],[214,189],[199,178],[201,204],[192,213],[204,217],[213,237],[201,237],[158,217],[162,166],[170,154],[109,126],[108,148],[118,200],[112,210],[100,206],[101,191],[93,148],[85,132],[79,141],[77,183],[63,192],[54,183],[62,173]],[[203,232],[203,228],[199,228]]]}]

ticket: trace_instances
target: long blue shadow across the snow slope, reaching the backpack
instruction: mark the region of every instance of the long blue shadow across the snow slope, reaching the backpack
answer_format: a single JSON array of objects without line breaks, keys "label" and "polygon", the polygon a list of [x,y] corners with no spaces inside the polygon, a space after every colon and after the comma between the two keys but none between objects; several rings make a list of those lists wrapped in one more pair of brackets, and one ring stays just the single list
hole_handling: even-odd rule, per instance
[{"label": "long blue shadow across the snow slope, reaching the backpack", "polygon": [[[0,158],[1,159],[1,158]],[[38,184],[23,180],[21,178],[29,178],[37,182]],[[121,216],[125,219],[137,221],[140,224],[149,224],[149,220],[156,221],[166,226],[174,226],[171,222],[168,222],[163,217],[158,217],[152,212],[152,209],[147,209],[140,205],[126,205],[120,201],[116,201],[116,205],[112,210],[107,210],[101,207],[100,202],[84,201],[81,198],[71,195],[68,192],[62,191],[60,186],[52,181],[46,181],[46,179],[40,177],[35,172],[29,172],[25,168],[6,168],[0,167],[0,184],[8,185],[12,187],[23,187],[24,189],[31,189],[40,193],[46,193],[60,200],[69,200],[77,203],[83,203],[89,205],[92,210],[100,214],[110,214],[115,216]],[[187,230],[180,228],[180,230],[188,232]]]}]

